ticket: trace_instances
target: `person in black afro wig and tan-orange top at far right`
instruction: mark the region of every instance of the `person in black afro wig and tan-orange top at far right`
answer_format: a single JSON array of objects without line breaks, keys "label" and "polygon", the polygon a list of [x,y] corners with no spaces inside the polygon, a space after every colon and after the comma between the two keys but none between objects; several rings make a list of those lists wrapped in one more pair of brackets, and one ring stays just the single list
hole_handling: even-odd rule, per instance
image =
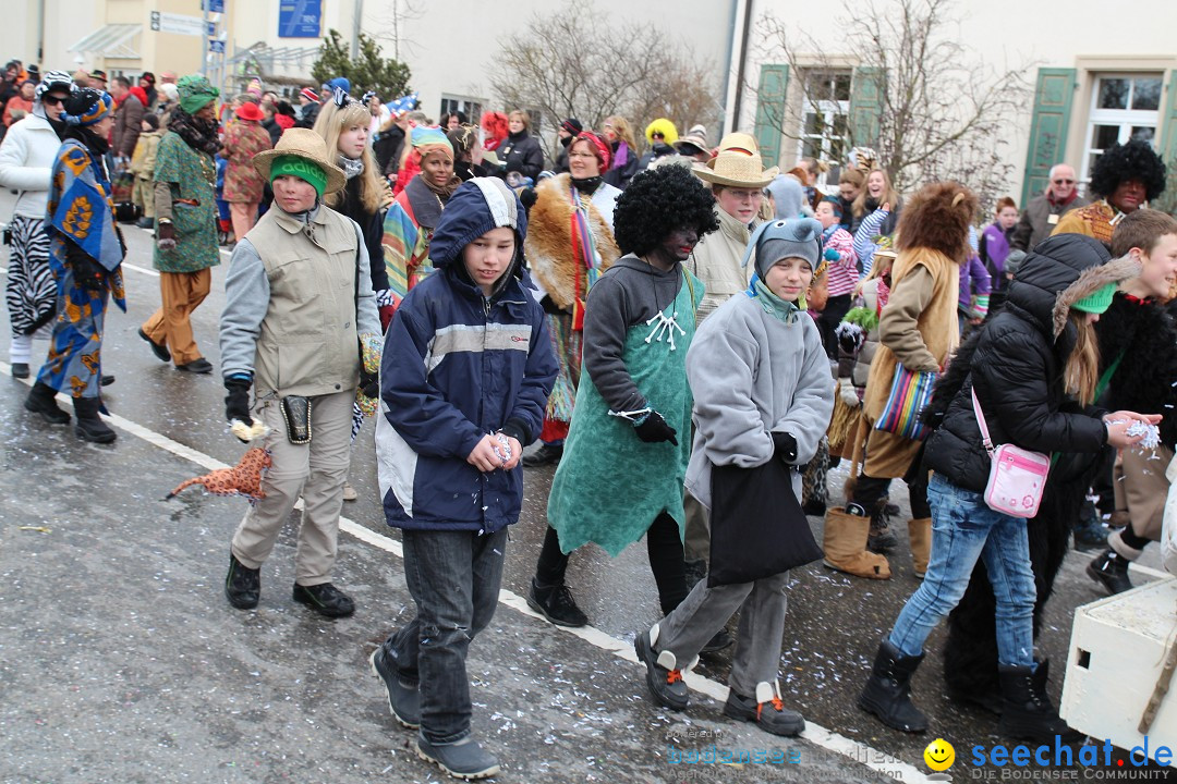
[{"label": "person in black afro wig and tan-orange top at far right", "polygon": [[1111,247],[1119,217],[1133,213],[1165,189],[1165,165],[1146,141],[1132,140],[1104,152],[1091,172],[1091,190],[1102,196],[1066,213],[1055,234],[1085,234]]}]

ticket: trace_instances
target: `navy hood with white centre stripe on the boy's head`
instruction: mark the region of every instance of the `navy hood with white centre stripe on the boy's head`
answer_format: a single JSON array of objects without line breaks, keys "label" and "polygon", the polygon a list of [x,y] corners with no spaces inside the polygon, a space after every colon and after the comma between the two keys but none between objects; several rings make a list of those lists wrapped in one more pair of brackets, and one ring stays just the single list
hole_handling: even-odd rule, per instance
[{"label": "navy hood with white centre stripe on the boy's head", "polygon": [[[467,244],[491,229],[510,226],[516,233],[516,262],[527,236],[527,215],[519,197],[498,177],[473,177],[453,192],[430,241],[430,259],[444,269],[461,257]],[[520,274],[520,264],[512,267]]]}]

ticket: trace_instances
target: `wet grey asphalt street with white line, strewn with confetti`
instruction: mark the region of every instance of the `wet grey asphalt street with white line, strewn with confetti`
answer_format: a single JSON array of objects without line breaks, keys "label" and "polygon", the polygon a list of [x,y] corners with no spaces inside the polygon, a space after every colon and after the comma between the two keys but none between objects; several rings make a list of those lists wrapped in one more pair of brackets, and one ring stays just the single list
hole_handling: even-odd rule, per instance
[{"label": "wet grey asphalt street with white line, strewn with confetti", "polygon": [[[12,202],[0,195],[0,215]],[[104,393],[119,431],[113,445],[85,444],[72,428],[26,413],[27,387],[9,375],[7,340],[0,349],[0,782],[441,780],[415,758],[367,663],[411,617],[399,535],[380,514],[372,423],[353,453],[360,497],[344,508],[335,572],[355,615],[325,621],[291,601],[290,525],[262,569],[261,605],[230,608],[221,582],[245,502],[199,488],[162,500],[242,453],[225,424],[218,364],[228,255],[193,317],[218,371],[192,376],[159,362],[137,336],[159,304],[159,281],[149,235],[125,232],[129,313],[109,311],[102,351],[104,373],[117,376]],[[34,346],[34,374],[46,346]],[[833,498],[844,471],[831,473]],[[879,638],[917,585],[905,545],[886,582],[819,564],[794,572],[782,685],[786,704],[810,722],[803,738],[720,715],[730,650],[697,668],[687,711],[658,708],[631,646],[634,630],[658,619],[644,547],[617,559],[594,547],[573,556],[568,583],[592,629],[556,629],[520,598],[543,541],[551,477],[550,467],[527,473],[504,596],[470,655],[474,731],[504,764],[494,780],[913,782],[926,780],[923,752],[937,736],[956,745],[958,759],[973,744],[1002,742],[992,717],[943,696],[940,630],[915,682],[929,735],[903,736],[855,708]],[[905,495],[897,484],[892,498],[906,515]],[[811,524],[820,541],[820,520]],[[1083,574],[1090,557],[1068,556],[1040,638],[1055,662],[1056,701],[1073,610],[1103,596]],[[1143,563],[1155,569],[1155,554]],[[1166,731],[1177,741],[1177,728]],[[778,762],[681,762],[712,746],[763,750]],[[979,771],[957,763],[950,772],[967,780]]]}]

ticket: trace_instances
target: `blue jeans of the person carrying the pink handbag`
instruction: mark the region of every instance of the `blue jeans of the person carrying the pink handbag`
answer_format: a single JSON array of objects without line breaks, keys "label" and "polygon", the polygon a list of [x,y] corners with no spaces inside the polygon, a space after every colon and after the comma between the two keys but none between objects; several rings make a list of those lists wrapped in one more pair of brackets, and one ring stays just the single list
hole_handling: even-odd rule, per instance
[{"label": "blue jeans of the person carrying the pink handbag", "polygon": [[927,484],[927,502],[932,508],[927,576],[899,612],[891,644],[904,656],[923,654],[927,635],[960,603],[980,558],[997,599],[998,662],[1032,668],[1036,589],[1026,521],[993,511],[979,492],[938,474]]}]

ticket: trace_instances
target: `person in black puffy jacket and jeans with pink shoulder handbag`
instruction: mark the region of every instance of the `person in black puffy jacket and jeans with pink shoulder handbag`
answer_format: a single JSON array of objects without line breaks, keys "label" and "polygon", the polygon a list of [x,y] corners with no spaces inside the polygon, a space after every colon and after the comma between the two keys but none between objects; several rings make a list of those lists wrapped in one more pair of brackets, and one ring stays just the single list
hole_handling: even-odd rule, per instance
[{"label": "person in black puffy jacket and jeans with pink shoulder handbag", "polygon": [[1092,324],[1111,304],[1116,284],[1137,273],[1128,259],[1109,261],[1090,237],[1049,239],[1026,257],[1003,310],[962,347],[955,373],[936,388],[925,413],[936,428],[924,455],[933,471],[927,575],[879,645],[858,698],[887,726],[927,729],[927,717],[911,702],[911,677],[924,641],[959,603],[980,559],[997,597],[999,731],[1033,742],[1079,737],[1051,705],[1045,664],[1033,657],[1036,589],[1026,536],[1032,511],[1015,516],[1011,490],[1029,496],[1017,500],[1018,510],[1036,510],[1035,492],[1040,497],[1045,478],[1036,463],[1049,464],[1056,451],[1131,447],[1143,437],[1137,422],[1161,420],[1091,406],[1099,369]]}]

